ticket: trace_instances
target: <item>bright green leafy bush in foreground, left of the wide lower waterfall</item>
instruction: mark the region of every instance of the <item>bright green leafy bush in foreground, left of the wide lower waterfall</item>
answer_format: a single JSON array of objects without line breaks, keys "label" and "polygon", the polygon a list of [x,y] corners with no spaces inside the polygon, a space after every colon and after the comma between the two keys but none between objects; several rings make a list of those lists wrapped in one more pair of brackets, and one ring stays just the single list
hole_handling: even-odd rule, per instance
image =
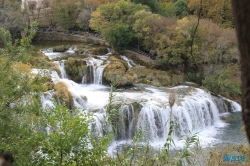
[{"label": "bright green leafy bush in foreground, left of the wide lower waterfall", "polygon": [[78,110],[69,111],[56,106],[41,113],[40,125],[49,129],[48,133],[38,131],[43,137],[36,165],[86,165],[92,161],[89,147],[88,125],[90,117]]}]

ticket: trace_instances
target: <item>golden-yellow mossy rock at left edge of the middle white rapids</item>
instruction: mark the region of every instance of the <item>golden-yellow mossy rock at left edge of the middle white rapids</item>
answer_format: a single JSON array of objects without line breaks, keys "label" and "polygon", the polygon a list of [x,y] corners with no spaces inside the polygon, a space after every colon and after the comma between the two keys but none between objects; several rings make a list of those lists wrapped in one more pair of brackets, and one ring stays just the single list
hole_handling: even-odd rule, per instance
[{"label": "golden-yellow mossy rock at left edge of the middle white rapids", "polygon": [[69,109],[73,109],[74,101],[71,93],[69,92],[67,85],[63,82],[59,82],[55,85],[55,95],[58,104],[67,106]]}]

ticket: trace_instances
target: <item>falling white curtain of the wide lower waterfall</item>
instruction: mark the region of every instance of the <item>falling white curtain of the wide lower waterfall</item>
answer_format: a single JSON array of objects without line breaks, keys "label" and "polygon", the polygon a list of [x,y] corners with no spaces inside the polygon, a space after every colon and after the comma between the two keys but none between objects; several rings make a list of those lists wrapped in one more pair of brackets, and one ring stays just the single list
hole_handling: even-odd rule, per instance
[{"label": "falling white curtain of the wide lower waterfall", "polygon": [[[167,138],[171,111],[168,105],[159,107],[148,103],[143,104],[137,116],[135,116],[132,104],[122,105],[119,111],[122,116],[119,120],[118,140],[132,139],[138,130],[143,131],[142,138],[144,141],[157,141]],[[218,109],[209,100],[201,102],[183,101],[181,106],[174,105],[172,116],[176,124],[175,137],[188,134],[189,131],[205,130],[220,121]]]}]

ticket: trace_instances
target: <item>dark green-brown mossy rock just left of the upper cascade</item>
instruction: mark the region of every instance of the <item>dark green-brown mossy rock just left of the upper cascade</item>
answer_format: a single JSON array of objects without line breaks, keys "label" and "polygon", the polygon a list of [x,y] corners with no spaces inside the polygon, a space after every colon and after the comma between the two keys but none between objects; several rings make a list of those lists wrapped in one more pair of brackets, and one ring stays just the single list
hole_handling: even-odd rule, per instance
[{"label": "dark green-brown mossy rock just left of the upper cascade", "polygon": [[79,58],[68,58],[64,62],[66,73],[69,79],[81,83],[82,77],[87,71],[86,62]]}]

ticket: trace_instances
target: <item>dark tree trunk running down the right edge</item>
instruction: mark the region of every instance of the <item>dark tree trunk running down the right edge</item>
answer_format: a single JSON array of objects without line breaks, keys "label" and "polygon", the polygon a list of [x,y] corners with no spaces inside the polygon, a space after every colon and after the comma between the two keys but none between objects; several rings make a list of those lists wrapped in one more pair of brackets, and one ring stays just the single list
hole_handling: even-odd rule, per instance
[{"label": "dark tree trunk running down the right edge", "polygon": [[242,116],[250,142],[250,1],[232,0],[242,72]]}]

